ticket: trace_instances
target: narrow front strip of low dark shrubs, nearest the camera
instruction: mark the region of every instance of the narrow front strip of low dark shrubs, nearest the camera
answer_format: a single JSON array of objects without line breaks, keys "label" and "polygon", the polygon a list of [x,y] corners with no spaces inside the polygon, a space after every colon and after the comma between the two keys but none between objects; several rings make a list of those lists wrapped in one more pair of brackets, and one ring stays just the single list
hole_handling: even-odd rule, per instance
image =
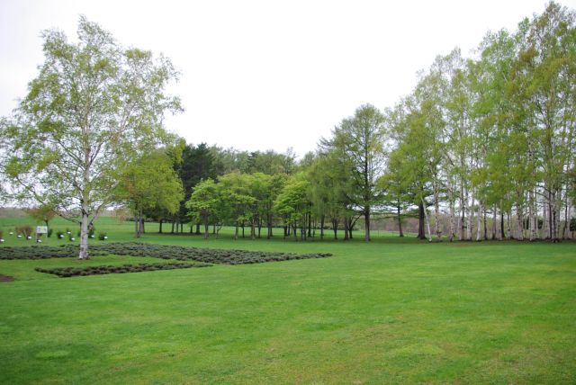
[{"label": "narrow front strip of low dark shrubs, nearest the camera", "polygon": [[122,264],[122,265],[103,265],[103,266],[85,266],[85,267],[56,267],[52,269],[42,269],[37,267],[37,272],[49,273],[58,275],[58,277],[76,277],[83,275],[100,275],[112,273],[140,273],[140,272],[154,272],[157,270],[174,270],[174,269],[189,269],[191,267],[206,267],[211,264],[192,263],[182,264],[176,262],[168,262],[165,264]]}]

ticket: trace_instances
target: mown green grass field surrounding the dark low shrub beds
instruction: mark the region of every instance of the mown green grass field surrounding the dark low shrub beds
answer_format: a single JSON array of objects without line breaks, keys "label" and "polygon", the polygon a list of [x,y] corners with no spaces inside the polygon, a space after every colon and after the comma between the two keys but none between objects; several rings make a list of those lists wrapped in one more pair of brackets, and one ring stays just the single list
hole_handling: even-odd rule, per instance
[{"label": "mown green grass field surrounding the dark low shrub beds", "polygon": [[[31,244],[6,235],[24,222],[33,224],[0,219],[4,246]],[[110,241],[133,240],[130,223],[96,227]],[[0,283],[0,383],[576,382],[573,242],[234,241],[229,230],[209,240],[147,230],[143,242],[334,256],[76,278],[33,269],[159,260],[0,261],[0,274],[15,278]]]}]

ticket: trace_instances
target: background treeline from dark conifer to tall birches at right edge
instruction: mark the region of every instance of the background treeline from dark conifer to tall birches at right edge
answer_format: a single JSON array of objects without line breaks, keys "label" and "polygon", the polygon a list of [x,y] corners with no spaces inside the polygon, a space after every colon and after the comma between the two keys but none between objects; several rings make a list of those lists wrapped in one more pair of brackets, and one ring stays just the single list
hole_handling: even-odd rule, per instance
[{"label": "background treeline from dark conifer to tall birches at right edge", "polygon": [[415,213],[430,241],[558,240],[571,230],[575,134],[575,14],[550,3],[517,31],[487,33],[472,58],[437,57],[393,108],[359,107],[298,164],[291,152],[186,146],[177,210],[147,214],[206,237],[231,224],[237,237],[282,226],[346,239],[359,220],[369,240],[374,216],[401,227]]}]

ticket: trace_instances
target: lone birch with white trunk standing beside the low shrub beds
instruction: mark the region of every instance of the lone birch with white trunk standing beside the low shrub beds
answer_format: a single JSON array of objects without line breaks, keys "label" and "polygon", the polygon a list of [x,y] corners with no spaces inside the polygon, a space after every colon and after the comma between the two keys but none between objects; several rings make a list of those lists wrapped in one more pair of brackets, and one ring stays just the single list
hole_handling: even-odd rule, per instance
[{"label": "lone birch with white trunk standing beside the low shrub beds", "polygon": [[169,59],[123,49],[83,16],[77,34],[42,33],[44,63],[3,124],[1,164],[15,198],[80,226],[87,259],[88,228],[114,201],[125,166],[166,138],[164,115],[181,107],[165,93],[177,77]]}]

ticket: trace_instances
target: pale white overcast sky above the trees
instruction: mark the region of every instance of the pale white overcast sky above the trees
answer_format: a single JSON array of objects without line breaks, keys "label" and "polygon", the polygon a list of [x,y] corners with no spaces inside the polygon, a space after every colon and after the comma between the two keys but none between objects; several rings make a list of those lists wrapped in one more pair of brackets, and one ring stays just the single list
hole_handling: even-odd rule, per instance
[{"label": "pale white overcast sky above the trees", "polygon": [[[576,8],[576,0],[559,3]],[[385,108],[416,72],[484,34],[515,30],[544,0],[33,1],[0,0],[0,115],[43,61],[40,31],[76,39],[78,15],[123,45],[171,58],[185,112],[166,121],[188,142],[299,157],[360,104]]]}]

